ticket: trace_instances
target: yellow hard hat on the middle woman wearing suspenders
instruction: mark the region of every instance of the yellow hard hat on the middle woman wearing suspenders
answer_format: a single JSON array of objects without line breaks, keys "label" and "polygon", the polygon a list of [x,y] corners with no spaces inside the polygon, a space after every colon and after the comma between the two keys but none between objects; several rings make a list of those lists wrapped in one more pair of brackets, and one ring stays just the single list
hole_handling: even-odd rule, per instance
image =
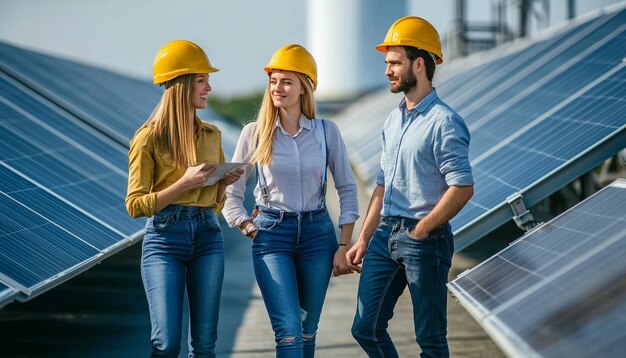
[{"label": "yellow hard hat on the middle woman wearing suspenders", "polygon": [[279,48],[264,68],[267,74],[272,70],[300,72],[307,75],[317,88],[317,64],[313,56],[300,45],[287,45]]}]

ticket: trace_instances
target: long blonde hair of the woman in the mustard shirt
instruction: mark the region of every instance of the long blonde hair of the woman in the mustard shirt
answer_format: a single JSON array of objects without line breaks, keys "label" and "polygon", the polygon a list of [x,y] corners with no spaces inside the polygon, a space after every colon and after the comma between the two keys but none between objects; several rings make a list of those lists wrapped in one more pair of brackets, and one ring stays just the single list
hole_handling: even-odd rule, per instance
[{"label": "long blonde hair of the woman in the mustard shirt", "polygon": [[150,127],[156,145],[170,153],[177,167],[196,164],[195,109],[191,104],[195,74],[178,76],[165,84],[165,93],[137,132]]}]

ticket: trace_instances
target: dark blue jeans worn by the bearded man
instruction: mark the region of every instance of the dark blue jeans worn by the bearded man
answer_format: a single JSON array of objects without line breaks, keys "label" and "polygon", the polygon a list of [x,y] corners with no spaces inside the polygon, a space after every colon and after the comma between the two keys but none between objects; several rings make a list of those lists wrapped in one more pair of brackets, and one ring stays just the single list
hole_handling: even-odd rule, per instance
[{"label": "dark blue jeans worn by the bearded man", "polygon": [[449,356],[446,282],[454,252],[452,231],[445,224],[428,238],[415,239],[408,231],[416,223],[382,217],[363,259],[352,335],[369,357],[398,357],[387,324],[407,285],[421,356]]}]

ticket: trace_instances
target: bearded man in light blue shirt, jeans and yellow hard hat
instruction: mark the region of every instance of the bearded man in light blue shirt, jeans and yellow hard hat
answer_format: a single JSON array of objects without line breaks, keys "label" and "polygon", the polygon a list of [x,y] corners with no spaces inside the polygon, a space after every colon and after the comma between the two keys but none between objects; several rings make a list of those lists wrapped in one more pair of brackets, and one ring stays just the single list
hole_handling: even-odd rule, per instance
[{"label": "bearded man in light blue shirt, jeans and yellow hard hat", "polygon": [[470,134],[437,96],[439,35],[426,20],[396,21],[376,47],[393,93],[404,93],[382,132],[381,171],[359,238],[346,257],[362,272],[352,335],[370,357],[397,357],[387,333],[409,287],[422,357],[448,357],[446,282],[454,240],[448,221],[472,197]]}]

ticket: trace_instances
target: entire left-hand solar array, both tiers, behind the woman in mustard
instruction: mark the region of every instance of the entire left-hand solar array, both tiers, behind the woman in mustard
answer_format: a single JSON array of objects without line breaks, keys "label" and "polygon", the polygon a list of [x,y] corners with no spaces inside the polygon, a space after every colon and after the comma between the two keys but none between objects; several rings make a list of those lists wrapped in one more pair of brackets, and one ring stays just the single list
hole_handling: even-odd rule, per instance
[{"label": "entire left-hand solar array, both tiers, behind the woman in mustard", "polygon": [[[0,43],[0,306],[35,297],[140,238],[144,220],[124,206],[127,145],[160,93]],[[231,155],[239,130],[218,126]]]}]

